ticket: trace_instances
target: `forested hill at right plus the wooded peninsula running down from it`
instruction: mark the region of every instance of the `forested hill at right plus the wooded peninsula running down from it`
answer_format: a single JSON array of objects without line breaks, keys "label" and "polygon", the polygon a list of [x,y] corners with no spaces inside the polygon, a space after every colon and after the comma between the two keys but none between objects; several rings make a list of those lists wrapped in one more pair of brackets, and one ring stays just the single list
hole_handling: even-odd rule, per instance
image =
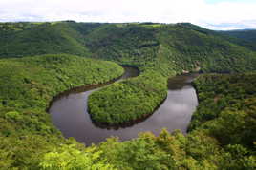
[{"label": "forested hill at right plus the wooded peninsula running down from it", "polygon": [[[170,75],[187,71],[245,72],[256,68],[253,51],[191,24],[105,25],[94,29],[87,39],[87,47],[96,57],[135,65],[141,70],[137,80],[110,85],[90,96],[90,113],[97,123],[127,123],[151,114],[165,99],[163,91]],[[148,74],[148,70],[160,72],[165,79]]]}]

